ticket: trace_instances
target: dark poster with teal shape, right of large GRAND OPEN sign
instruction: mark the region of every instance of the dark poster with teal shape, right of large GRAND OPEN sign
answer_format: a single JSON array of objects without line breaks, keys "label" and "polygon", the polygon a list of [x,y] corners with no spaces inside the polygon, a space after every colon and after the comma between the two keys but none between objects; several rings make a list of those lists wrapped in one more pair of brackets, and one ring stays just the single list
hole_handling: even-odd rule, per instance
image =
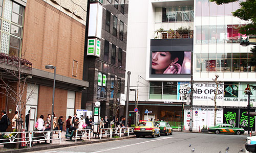
[{"label": "dark poster with teal shape, right of large GRAND OPEN sign", "polygon": [[224,100],[225,101],[238,101],[239,96],[238,83],[225,82],[224,83]]}]

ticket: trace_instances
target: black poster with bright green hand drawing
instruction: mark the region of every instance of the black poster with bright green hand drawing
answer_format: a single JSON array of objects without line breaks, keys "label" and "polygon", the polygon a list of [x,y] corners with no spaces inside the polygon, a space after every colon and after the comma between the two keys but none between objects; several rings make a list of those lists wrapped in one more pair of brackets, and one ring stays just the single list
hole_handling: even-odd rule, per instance
[{"label": "black poster with bright green hand drawing", "polygon": [[224,109],[223,123],[232,125],[233,127],[239,126],[239,113],[238,109]]}]

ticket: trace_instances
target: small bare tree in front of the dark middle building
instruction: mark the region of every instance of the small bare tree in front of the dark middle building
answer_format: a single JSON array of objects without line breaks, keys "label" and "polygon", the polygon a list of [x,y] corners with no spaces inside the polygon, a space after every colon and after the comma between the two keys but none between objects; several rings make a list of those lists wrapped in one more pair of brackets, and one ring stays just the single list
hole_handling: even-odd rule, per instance
[{"label": "small bare tree in front of the dark middle building", "polygon": [[113,113],[115,114],[115,118],[117,117],[118,110],[123,108],[123,106],[120,105],[120,97],[118,97],[118,91],[120,90],[119,89],[120,84],[121,84],[120,82],[115,81],[115,83],[114,83],[114,94],[113,94],[113,103],[110,103],[110,105],[109,105],[110,110],[113,111]]}]

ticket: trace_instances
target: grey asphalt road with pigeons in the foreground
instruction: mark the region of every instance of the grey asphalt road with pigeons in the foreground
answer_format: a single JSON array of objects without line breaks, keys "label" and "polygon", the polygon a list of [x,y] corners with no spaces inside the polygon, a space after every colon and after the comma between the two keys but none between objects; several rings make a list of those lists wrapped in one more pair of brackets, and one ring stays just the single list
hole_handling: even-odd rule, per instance
[{"label": "grey asphalt road with pigeons in the foreground", "polygon": [[[132,138],[111,142],[80,145],[74,147],[58,148],[45,151],[36,151],[40,153],[73,153],[73,152],[215,152],[225,153],[229,146],[230,152],[239,152],[244,148],[245,135],[224,135],[224,134],[200,134],[200,133],[180,133],[174,132],[173,135],[161,136],[160,138]],[[189,147],[189,143],[191,147]]]}]

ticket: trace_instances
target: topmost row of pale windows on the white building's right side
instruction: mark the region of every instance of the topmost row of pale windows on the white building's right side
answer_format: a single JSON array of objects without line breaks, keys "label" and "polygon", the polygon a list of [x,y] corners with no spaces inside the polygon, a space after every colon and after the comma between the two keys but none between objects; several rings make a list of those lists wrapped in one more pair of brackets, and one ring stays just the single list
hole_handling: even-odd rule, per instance
[{"label": "topmost row of pale windows on the white building's right side", "polygon": [[240,8],[238,2],[217,5],[208,0],[196,0],[196,16],[232,16],[232,12]]}]

